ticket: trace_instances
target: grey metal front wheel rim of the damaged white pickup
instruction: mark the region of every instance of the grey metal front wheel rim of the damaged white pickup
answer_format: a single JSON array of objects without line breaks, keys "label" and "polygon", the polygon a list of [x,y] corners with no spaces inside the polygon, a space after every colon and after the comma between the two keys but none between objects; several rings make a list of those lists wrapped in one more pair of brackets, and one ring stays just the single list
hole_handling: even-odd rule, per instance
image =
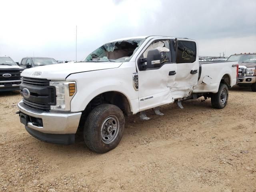
[{"label": "grey metal front wheel rim of the damaged white pickup", "polygon": [[120,123],[118,118],[115,115],[108,116],[101,126],[101,140],[105,144],[110,144],[114,142],[116,137],[118,136]]}]

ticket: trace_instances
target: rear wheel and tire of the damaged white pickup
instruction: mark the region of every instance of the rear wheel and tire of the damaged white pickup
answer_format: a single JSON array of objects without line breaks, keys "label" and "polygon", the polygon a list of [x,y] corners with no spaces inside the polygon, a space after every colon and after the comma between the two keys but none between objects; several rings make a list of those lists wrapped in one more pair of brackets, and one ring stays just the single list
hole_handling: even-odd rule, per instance
[{"label": "rear wheel and tire of the damaged white pickup", "polygon": [[217,93],[211,94],[212,107],[217,109],[223,109],[228,103],[228,86],[226,84],[220,84]]}]

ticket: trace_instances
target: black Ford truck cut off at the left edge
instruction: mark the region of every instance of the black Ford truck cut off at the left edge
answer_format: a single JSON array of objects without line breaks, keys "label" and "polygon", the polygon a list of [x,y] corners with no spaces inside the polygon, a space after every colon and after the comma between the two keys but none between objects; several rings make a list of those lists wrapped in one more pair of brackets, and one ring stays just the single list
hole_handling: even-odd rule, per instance
[{"label": "black Ford truck cut off at the left edge", "polygon": [[23,70],[9,56],[0,56],[0,92],[19,90]]}]

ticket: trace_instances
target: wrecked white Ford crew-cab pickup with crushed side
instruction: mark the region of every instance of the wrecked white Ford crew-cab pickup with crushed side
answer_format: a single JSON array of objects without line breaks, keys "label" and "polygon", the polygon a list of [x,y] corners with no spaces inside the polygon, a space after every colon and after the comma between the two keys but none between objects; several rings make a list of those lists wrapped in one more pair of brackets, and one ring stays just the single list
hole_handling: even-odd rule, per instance
[{"label": "wrecked white Ford crew-cab pickup with crushed side", "polygon": [[214,108],[228,102],[237,62],[198,61],[195,40],[167,36],[125,38],[104,44],[81,62],[22,72],[20,122],[39,140],[72,144],[83,132],[86,146],[104,153],[124,133],[124,115],[201,96]]}]

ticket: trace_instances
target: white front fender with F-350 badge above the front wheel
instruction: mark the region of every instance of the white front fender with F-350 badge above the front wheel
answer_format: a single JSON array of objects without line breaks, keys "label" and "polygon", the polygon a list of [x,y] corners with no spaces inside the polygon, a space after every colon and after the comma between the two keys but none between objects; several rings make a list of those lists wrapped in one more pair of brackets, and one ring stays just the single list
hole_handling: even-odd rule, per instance
[{"label": "white front fender with F-350 badge above the front wheel", "polygon": [[[135,63],[133,63],[135,66]],[[71,100],[71,111],[83,111],[88,103],[99,94],[116,91],[126,96],[131,111],[138,106],[132,100],[138,100],[138,91],[134,90],[132,73],[136,72],[130,67],[98,70],[71,74],[67,80],[76,81],[77,92]]]}]

